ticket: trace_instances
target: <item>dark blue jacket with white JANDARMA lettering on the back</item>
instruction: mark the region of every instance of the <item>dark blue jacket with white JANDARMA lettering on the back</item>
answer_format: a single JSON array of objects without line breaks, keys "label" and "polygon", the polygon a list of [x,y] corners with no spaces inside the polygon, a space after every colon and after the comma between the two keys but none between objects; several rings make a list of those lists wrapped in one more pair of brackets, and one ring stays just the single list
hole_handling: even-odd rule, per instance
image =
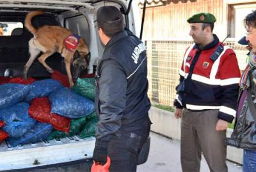
[{"label": "dark blue jacket with white JANDARMA lettering on the back", "polygon": [[96,138],[109,140],[120,129],[135,129],[148,117],[147,55],[140,39],[126,31],[110,39],[96,72]]}]

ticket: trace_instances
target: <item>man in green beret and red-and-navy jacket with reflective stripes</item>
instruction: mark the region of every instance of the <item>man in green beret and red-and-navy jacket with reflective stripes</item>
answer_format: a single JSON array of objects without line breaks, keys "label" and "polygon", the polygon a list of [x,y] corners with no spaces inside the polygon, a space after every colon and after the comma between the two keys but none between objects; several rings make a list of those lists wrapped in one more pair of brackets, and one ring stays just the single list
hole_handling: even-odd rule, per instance
[{"label": "man in green beret and red-and-navy jacket with reflective stripes", "polygon": [[212,33],[214,22],[211,13],[188,18],[194,44],[184,55],[174,102],[175,117],[182,118],[182,171],[200,171],[202,154],[210,171],[228,171],[225,138],[236,116],[240,72],[235,52]]}]

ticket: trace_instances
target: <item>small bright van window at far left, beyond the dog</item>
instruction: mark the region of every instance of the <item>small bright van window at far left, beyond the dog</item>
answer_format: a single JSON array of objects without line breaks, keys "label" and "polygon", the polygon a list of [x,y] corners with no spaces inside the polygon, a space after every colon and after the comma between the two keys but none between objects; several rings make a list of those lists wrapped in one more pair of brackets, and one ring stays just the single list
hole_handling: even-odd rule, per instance
[{"label": "small bright van window at far left, beyond the dog", "polygon": [[22,31],[22,22],[0,22],[0,36],[19,36]]}]

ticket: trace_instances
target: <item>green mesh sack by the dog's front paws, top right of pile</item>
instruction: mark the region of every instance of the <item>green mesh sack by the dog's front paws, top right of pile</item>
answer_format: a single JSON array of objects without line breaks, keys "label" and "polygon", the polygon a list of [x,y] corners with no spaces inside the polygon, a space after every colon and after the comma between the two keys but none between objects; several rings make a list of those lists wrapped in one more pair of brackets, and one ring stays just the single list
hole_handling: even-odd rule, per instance
[{"label": "green mesh sack by the dog's front paws, top right of pile", "polygon": [[77,78],[77,83],[73,90],[83,97],[92,101],[95,99],[95,80],[94,78]]}]

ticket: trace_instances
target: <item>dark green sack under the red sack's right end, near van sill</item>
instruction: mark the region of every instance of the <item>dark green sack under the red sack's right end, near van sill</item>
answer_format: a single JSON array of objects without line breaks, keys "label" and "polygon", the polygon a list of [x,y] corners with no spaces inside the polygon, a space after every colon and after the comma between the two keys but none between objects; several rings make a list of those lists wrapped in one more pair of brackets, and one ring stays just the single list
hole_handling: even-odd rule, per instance
[{"label": "dark green sack under the red sack's right end, near van sill", "polygon": [[52,140],[54,138],[60,139],[65,137],[72,137],[76,134],[79,134],[81,133],[84,124],[86,124],[86,117],[71,120],[70,129],[68,133],[64,131],[54,130],[52,131],[51,135],[47,138],[47,140]]}]

